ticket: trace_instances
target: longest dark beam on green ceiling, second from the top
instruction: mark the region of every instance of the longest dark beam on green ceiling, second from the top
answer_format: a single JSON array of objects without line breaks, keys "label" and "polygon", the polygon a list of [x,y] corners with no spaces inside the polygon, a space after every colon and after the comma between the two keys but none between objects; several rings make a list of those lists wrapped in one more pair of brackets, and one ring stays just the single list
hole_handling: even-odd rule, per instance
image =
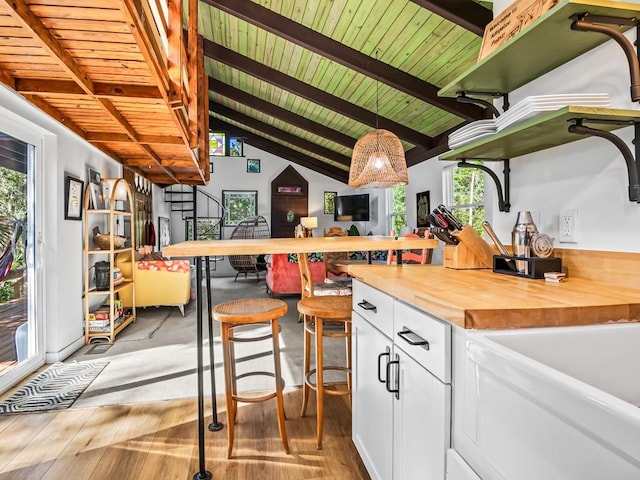
[{"label": "longest dark beam on green ceiling, second from the top", "polygon": [[237,0],[203,1],[351,70],[368,77],[375,74],[375,78],[380,82],[465,120],[478,120],[483,117],[480,107],[460,104],[452,98],[439,97],[439,88],[435,85],[371,58],[259,4]]}]

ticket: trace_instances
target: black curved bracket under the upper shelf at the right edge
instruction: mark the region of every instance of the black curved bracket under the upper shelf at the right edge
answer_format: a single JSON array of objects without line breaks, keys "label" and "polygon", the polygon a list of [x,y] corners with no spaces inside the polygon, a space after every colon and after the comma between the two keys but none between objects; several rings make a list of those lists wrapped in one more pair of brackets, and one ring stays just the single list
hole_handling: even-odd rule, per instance
[{"label": "black curved bracket under the upper shelf at the right edge", "polygon": [[636,18],[590,15],[589,12],[572,15],[571,20],[573,20],[571,30],[602,33],[615,40],[618,45],[622,47],[624,54],[627,56],[627,62],[629,63],[631,100],[634,102],[640,101],[640,62],[638,61],[635,48],[623,33],[606,25],[607,23],[614,25],[633,25],[637,28],[638,20]]}]

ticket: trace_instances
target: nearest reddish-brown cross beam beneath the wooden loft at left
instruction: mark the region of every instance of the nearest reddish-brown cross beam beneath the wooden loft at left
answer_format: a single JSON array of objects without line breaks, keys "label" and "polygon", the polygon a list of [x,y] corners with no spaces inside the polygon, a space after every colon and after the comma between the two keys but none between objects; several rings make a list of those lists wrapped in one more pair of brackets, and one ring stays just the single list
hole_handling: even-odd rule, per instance
[{"label": "nearest reddish-brown cross beam beneath the wooden loft at left", "polygon": [[[123,85],[118,83],[93,84],[95,97],[101,98],[132,98],[139,100],[148,98],[149,100],[161,100],[162,95],[156,87],[144,85]],[[69,80],[40,80],[35,78],[16,78],[14,89],[23,94],[33,95],[56,95],[78,97],[87,95],[85,90],[77,83]]]}]

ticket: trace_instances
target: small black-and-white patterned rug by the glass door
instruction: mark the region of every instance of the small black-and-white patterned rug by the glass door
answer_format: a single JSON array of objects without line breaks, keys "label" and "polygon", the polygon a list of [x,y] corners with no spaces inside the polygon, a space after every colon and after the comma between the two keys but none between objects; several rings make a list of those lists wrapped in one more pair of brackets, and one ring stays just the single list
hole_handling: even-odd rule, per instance
[{"label": "small black-and-white patterned rug by the glass door", "polygon": [[69,408],[108,363],[54,363],[1,402],[0,414]]}]

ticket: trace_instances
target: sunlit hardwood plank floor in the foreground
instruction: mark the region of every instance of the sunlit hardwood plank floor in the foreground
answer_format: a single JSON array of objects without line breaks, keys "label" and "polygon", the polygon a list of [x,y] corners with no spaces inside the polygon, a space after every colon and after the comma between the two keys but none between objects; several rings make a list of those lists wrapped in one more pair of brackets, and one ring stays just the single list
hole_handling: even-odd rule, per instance
[{"label": "sunlit hardwood plank floor in the foreground", "polygon": [[[226,423],[223,402],[219,419]],[[351,442],[347,397],[325,399],[322,450],[315,446],[315,403],[300,417],[300,402],[299,389],[285,394],[290,455],[280,441],[275,400],[239,406],[229,460],[226,429],[206,430],[213,479],[369,479]],[[197,472],[195,399],[0,415],[0,480],[190,480]]]}]

